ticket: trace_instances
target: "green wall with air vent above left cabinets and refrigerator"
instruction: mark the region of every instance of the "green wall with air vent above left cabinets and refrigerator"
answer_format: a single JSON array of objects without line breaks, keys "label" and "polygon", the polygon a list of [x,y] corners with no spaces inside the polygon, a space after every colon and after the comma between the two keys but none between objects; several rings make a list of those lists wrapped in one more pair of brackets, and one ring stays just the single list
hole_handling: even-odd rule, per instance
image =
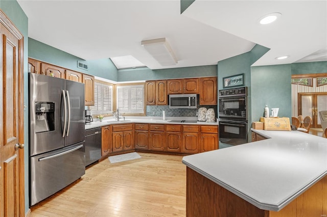
[{"label": "green wall with air vent above left cabinets and refrigerator", "polygon": [[[29,57],[57,66],[117,81],[117,69],[109,58],[83,60],[67,52],[29,38]],[[77,61],[88,65],[88,70],[77,67]]]}]

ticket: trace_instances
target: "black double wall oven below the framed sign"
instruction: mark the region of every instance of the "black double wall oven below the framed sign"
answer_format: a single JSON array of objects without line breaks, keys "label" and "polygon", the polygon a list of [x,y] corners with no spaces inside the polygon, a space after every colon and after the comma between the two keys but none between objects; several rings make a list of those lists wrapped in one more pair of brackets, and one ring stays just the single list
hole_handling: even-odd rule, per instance
[{"label": "black double wall oven below the framed sign", "polygon": [[219,141],[247,143],[247,87],[219,90]]}]

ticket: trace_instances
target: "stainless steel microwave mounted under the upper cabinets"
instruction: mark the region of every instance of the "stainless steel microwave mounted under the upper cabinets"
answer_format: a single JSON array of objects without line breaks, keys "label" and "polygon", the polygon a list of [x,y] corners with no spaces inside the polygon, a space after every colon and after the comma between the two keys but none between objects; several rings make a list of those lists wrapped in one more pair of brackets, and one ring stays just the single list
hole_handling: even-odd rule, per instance
[{"label": "stainless steel microwave mounted under the upper cabinets", "polygon": [[196,108],[196,94],[170,94],[169,108]]}]

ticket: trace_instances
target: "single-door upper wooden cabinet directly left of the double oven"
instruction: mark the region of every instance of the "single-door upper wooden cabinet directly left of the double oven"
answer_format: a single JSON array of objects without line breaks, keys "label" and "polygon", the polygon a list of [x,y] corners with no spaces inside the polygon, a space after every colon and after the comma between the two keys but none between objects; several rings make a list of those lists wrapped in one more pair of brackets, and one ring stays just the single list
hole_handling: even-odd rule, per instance
[{"label": "single-door upper wooden cabinet directly left of the double oven", "polygon": [[200,105],[217,105],[217,77],[200,78]]}]

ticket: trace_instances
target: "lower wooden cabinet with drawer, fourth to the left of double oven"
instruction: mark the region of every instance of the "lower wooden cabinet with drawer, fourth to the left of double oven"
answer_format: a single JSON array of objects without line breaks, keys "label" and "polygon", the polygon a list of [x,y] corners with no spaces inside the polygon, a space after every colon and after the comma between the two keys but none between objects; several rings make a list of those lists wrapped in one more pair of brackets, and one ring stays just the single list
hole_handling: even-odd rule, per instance
[{"label": "lower wooden cabinet with drawer, fourth to the left of double oven", "polygon": [[165,125],[150,124],[149,150],[165,151]]}]

